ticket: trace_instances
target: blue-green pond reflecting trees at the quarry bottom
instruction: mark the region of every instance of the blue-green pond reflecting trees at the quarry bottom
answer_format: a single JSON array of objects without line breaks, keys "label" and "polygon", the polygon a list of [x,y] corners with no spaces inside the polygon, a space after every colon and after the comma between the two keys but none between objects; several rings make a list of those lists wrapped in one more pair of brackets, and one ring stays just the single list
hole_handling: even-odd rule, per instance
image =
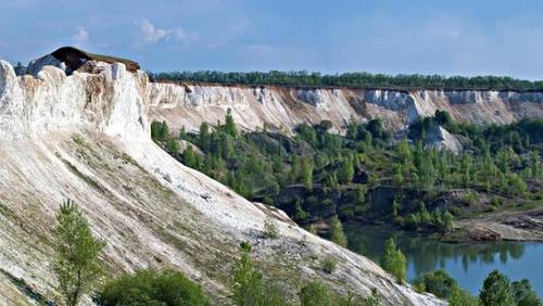
[{"label": "blue-green pond reflecting trees at the quarry bottom", "polygon": [[443,243],[382,226],[345,225],[349,248],[379,263],[384,241],[394,237],[408,260],[409,280],[439,268],[478,295],[487,276],[497,269],[512,281],[529,279],[543,297],[543,243]]}]

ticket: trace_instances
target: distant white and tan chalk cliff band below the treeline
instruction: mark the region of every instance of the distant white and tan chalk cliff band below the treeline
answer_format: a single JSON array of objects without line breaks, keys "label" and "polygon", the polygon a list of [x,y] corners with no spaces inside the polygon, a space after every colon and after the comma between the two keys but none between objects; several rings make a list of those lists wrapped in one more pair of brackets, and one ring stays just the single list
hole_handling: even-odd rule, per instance
[{"label": "distant white and tan chalk cliff band below the treeline", "polygon": [[472,124],[506,124],[543,117],[543,92],[479,90],[412,90],[289,88],[153,84],[148,91],[151,117],[175,128],[198,129],[202,122],[224,120],[228,109],[247,130],[268,127],[291,130],[298,124],[345,123],[380,117],[394,130],[420,116],[447,111],[452,118]]}]

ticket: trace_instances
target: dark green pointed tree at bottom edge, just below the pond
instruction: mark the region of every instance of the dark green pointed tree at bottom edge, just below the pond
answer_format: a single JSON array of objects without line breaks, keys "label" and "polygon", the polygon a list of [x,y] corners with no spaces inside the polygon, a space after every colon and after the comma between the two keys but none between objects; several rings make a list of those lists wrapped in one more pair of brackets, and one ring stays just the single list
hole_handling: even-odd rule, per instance
[{"label": "dark green pointed tree at bottom edge, just below the pond", "polygon": [[479,298],[484,306],[516,305],[509,279],[497,270],[493,270],[484,280]]}]

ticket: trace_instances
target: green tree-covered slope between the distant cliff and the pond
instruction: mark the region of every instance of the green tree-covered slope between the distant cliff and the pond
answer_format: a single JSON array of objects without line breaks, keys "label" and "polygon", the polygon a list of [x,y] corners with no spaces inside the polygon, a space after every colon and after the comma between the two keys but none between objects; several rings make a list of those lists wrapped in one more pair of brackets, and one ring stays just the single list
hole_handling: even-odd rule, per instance
[{"label": "green tree-covered slope between the distant cliff and the pond", "polygon": [[[543,196],[541,119],[480,127],[439,111],[412,124],[404,139],[393,138],[380,119],[350,123],[345,136],[330,127],[300,125],[294,137],[240,133],[227,114],[224,125],[204,123],[198,133],[171,132],[155,122],[152,136],[185,165],[312,230],[339,216],[445,233],[455,219],[533,208]],[[437,127],[462,139],[465,150],[433,146],[428,135]]]}]

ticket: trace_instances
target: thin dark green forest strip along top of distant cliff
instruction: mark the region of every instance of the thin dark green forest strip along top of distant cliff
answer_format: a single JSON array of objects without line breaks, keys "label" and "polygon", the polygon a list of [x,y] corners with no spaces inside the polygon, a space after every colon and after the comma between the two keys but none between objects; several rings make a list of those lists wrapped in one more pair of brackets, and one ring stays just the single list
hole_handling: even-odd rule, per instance
[{"label": "thin dark green forest strip along top of distant cliff", "polygon": [[386,89],[478,89],[478,90],[543,90],[543,81],[516,79],[507,76],[445,77],[440,75],[386,75],[343,73],[321,75],[300,72],[163,72],[149,73],[157,81],[215,82],[229,85],[270,85],[292,87],[356,87]]}]

